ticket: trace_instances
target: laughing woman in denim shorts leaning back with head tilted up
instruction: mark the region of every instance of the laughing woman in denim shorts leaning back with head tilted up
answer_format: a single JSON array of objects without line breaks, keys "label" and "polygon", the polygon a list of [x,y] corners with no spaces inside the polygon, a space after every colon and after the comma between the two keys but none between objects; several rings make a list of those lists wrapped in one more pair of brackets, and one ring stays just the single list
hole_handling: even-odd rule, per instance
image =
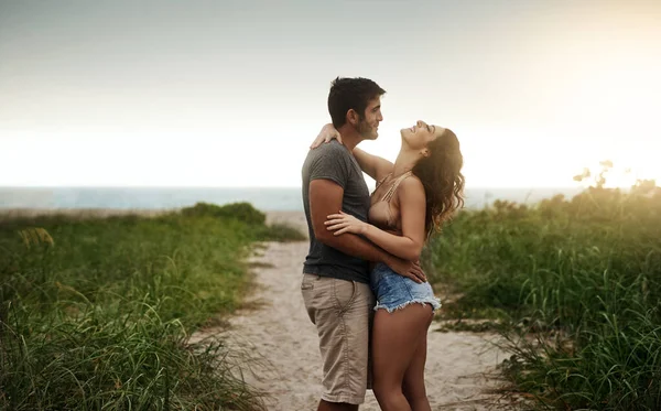
[{"label": "laughing woman in denim shorts leaning back with head tilted up", "polygon": [[[312,148],[332,139],[342,142],[326,125]],[[464,204],[463,155],[454,132],[424,121],[402,129],[401,140],[394,164],[354,150],[362,171],[378,182],[369,223],[340,212],[325,224],[335,235],[362,235],[393,256],[418,261],[430,235]],[[370,277],[378,301],[371,340],[375,396],[383,411],[429,411],[426,333],[441,303],[427,282],[416,283],[382,263]]]}]

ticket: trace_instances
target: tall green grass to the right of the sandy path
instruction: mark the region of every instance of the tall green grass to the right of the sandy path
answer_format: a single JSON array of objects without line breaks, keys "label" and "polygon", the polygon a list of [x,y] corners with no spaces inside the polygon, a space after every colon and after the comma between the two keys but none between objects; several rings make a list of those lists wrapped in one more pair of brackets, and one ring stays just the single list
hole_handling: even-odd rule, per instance
[{"label": "tall green grass to the right of the sandy path", "polygon": [[[661,190],[463,212],[425,250],[446,317],[488,317],[540,409],[661,409]],[[523,338],[534,335],[535,338]]]}]

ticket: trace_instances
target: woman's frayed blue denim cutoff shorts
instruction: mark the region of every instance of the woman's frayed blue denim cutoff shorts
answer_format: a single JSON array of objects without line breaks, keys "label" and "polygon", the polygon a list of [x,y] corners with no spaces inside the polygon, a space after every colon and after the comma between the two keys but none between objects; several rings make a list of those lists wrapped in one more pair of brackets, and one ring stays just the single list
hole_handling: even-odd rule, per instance
[{"label": "woman's frayed blue denim cutoff shorts", "polygon": [[370,286],[377,298],[375,311],[386,309],[389,313],[412,303],[430,304],[432,311],[441,307],[441,300],[434,296],[429,282],[415,281],[400,275],[384,263],[375,266],[370,275]]}]

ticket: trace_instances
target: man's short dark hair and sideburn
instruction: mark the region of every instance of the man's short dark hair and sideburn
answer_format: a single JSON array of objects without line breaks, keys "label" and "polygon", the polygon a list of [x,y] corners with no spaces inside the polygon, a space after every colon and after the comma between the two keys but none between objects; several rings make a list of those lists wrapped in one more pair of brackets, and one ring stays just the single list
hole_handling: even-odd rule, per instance
[{"label": "man's short dark hair and sideburn", "polygon": [[347,111],[354,109],[360,119],[365,118],[365,109],[369,100],[372,100],[386,90],[369,78],[340,78],[337,77],[330,84],[328,93],[328,112],[333,126],[338,129],[347,122]]}]

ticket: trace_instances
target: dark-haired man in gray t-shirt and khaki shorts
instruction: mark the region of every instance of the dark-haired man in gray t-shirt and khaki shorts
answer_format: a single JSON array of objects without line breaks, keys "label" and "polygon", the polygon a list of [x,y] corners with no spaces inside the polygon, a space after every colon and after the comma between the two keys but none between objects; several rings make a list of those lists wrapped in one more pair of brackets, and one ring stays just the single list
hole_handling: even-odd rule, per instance
[{"label": "dark-haired man in gray t-shirt and khaki shorts", "polygon": [[328,111],[343,144],[333,140],[311,150],[303,164],[310,251],[301,290],[319,336],[323,394],[318,411],[358,410],[365,401],[375,305],[369,262],[383,262],[402,275],[424,278],[415,263],[354,234],[335,236],[324,225],[326,216],[339,210],[367,220],[369,190],[351,152],[362,140],[377,139],[384,93],[367,78],[336,78],[328,94]]}]

